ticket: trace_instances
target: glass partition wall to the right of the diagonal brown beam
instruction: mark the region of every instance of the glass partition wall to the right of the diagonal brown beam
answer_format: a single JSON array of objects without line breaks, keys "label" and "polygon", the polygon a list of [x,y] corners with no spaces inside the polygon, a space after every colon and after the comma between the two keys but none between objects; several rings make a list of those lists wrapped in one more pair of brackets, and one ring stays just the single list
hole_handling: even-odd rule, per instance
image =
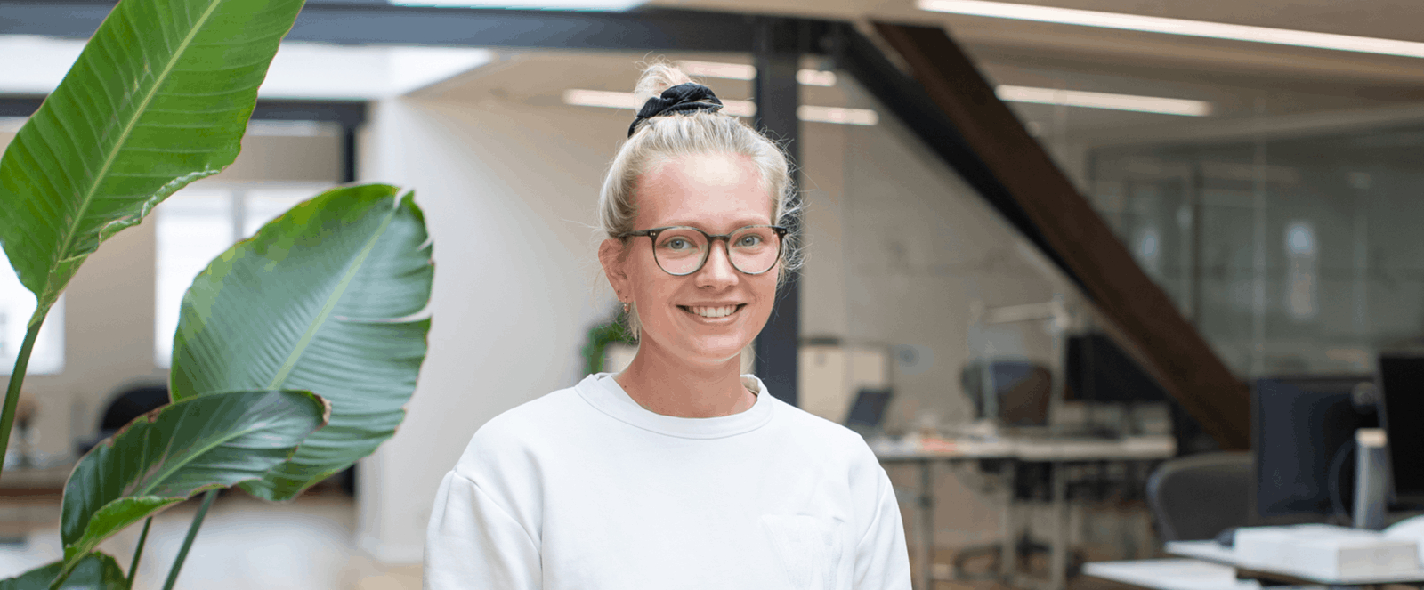
[{"label": "glass partition wall to the right of the diagonal brown beam", "polygon": [[1092,197],[1239,375],[1373,372],[1424,331],[1421,127],[1102,147]]}]

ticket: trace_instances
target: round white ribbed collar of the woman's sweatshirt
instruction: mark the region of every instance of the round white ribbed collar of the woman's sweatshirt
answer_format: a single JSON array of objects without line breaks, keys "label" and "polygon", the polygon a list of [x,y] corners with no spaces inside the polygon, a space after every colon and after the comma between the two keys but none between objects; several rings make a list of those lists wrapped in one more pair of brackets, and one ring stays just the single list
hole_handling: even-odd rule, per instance
[{"label": "round white ribbed collar of the woman's sweatshirt", "polygon": [[772,419],[775,400],[766,393],[766,385],[755,375],[742,375],[742,383],[756,392],[756,402],[743,412],[716,418],[664,416],[644,409],[612,373],[590,375],[574,390],[600,412],[645,430],[684,439],[721,439],[755,430]]}]

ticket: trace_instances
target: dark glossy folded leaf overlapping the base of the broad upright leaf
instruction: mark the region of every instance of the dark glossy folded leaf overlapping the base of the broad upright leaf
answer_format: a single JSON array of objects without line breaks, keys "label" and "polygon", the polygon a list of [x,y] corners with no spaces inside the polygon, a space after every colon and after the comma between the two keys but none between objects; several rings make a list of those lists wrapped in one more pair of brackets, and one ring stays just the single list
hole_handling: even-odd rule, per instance
[{"label": "dark glossy folded leaf overlapping the base of the broad upright leaf", "polygon": [[209,393],[152,410],[80,459],[60,537],[74,564],[118,530],[192,495],[262,477],[326,422],[313,393]]}]

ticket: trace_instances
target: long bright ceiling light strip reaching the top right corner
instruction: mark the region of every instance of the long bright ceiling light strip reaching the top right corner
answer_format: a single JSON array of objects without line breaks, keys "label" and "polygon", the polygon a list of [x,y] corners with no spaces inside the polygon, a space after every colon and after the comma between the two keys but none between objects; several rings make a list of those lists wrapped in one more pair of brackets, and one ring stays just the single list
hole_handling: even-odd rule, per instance
[{"label": "long bright ceiling light strip reaching the top right corner", "polygon": [[1374,53],[1383,56],[1424,57],[1424,43],[1400,41],[1393,38],[1356,37],[1349,34],[1296,31],[1289,29],[1253,27],[1247,24],[1209,23],[1203,20],[1104,13],[1096,10],[1058,9],[1051,6],[1025,6],[987,0],[917,0],[916,6],[918,6],[920,10],[930,10],[936,13],[1078,24],[1084,27],[1226,38],[1233,41],[1316,47],[1337,51]]}]

